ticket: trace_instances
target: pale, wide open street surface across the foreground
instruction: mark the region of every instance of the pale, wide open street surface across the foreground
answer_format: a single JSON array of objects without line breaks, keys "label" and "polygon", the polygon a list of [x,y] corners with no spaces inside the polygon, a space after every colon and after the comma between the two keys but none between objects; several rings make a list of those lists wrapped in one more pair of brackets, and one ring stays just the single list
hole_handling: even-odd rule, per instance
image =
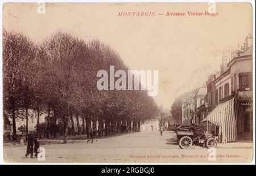
[{"label": "pale, wide open street surface across the foreground", "polygon": [[[46,161],[25,158],[25,145],[3,147],[5,162],[250,162],[253,143],[218,144],[216,161],[208,160],[207,148],[180,149],[175,133],[136,132],[110,138],[69,140],[68,144],[46,144]],[[242,150],[241,150],[242,148]],[[231,160],[230,160],[231,159]]]}]

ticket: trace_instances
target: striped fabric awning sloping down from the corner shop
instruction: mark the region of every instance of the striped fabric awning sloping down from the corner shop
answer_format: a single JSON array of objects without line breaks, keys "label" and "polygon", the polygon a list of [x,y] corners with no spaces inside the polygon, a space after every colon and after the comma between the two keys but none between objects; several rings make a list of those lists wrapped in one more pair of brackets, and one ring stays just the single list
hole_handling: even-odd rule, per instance
[{"label": "striped fabric awning sloping down from the corner shop", "polygon": [[236,118],[234,115],[234,98],[225,101],[213,109],[203,121],[209,121],[219,127],[222,143],[236,141]]}]

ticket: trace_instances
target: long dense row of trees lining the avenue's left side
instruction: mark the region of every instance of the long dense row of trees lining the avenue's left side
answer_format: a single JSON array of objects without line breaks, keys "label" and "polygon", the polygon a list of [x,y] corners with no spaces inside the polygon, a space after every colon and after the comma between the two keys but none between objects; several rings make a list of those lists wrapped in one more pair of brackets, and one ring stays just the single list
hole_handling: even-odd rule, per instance
[{"label": "long dense row of trees lining the avenue's left side", "polygon": [[[114,66],[128,70],[119,55],[98,40],[85,42],[64,32],[57,32],[35,45],[21,33],[3,31],[3,103],[4,112],[13,120],[16,135],[16,111],[28,109],[48,114],[50,126],[61,124],[63,142],[67,143],[68,125],[82,118],[85,134],[93,122],[98,133],[117,131],[123,123],[136,131],[141,122],[154,119],[159,108],[147,91],[99,91],[97,72]],[[135,79],[135,78],[134,78]],[[133,123],[131,123],[133,122]],[[133,127],[131,125],[133,124]]]}]

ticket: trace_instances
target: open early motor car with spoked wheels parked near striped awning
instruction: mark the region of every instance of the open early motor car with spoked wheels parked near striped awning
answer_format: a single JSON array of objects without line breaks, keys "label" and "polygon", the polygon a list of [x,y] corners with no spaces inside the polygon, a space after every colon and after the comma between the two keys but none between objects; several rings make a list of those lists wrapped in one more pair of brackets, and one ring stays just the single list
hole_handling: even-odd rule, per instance
[{"label": "open early motor car with spoked wheels parked near striped awning", "polygon": [[182,149],[189,149],[193,144],[207,148],[217,146],[217,140],[213,138],[212,134],[207,133],[207,127],[205,125],[175,123],[171,128],[172,131],[176,132],[177,144]]}]

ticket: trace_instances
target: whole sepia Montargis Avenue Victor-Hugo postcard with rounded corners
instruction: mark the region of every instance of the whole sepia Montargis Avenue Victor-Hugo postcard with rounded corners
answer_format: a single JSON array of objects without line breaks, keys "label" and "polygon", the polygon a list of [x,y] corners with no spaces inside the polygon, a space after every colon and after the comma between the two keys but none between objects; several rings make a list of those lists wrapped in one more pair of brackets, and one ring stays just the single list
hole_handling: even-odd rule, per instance
[{"label": "whole sepia Montargis Avenue Victor-Hugo postcard with rounded corners", "polygon": [[249,2],[3,3],[3,162],[255,162],[254,40]]}]

